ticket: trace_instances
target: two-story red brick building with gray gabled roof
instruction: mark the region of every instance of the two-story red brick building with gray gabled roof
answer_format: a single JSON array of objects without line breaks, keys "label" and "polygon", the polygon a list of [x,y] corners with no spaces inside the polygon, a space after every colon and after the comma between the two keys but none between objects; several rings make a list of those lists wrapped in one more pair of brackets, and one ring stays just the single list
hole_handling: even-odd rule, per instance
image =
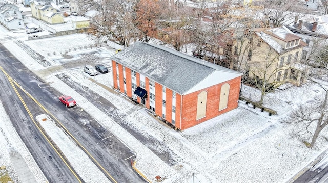
[{"label": "two-story red brick building with gray gabled roof", "polygon": [[136,42],[112,56],[114,88],[180,130],[238,106],[241,73]]}]

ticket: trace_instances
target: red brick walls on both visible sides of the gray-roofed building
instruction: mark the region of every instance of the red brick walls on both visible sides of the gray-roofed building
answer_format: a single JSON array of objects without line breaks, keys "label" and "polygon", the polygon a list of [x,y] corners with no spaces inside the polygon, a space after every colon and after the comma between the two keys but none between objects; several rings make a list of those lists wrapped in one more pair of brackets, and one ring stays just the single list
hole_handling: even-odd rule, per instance
[{"label": "red brick walls on both visible sides of the gray-roofed building", "polygon": [[[117,73],[116,73],[116,62],[112,60],[113,66],[113,85],[117,88]],[[123,67],[122,65],[118,65],[119,69],[119,84],[120,91],[124,92],[124,80],[123,80]],[[132,79],[131,79],[131,69],[125,68],[126,72],[126,86],[127,86],[127,95],[132,97]],[[175,126],[180,130],[187,129],[189,127],[195,126],[199,123],[212,119],[216,116],[219,116],[223,113],[231,111],[238,107],[238,98],[239,98],[239,89],[240,89],[240,79],[241,77],[237,77],[236,79],[211,86],[187,95],[179,95],[176,94],[176,112],[175,112]],[[140,86],[140,74],[137,73],[136,76],[137,86]],[[150,108],[149,101],[149,79],[145,77],[146,90],[148,91],[146,108]],[[221,86],[225,83],[229,83],[230,91],[229,91],[229,100],[228,100],[228,108],[219,111],[219,98]],[[206,107],[206,117],[196,120],[196,112],[197,112],[197,96],[200,92],[207,91],[207,107]],[[166,120],[172,123],[172,90],[166,88]],[[162,86],[158,83],[155,83],[155,109],[156,114],[162,116]],[[182,111],[181,111],[181,100],[182,100]],[[137,101],[140,103],[140,98],[137,97]],[[181,116],[181,118],[180,118]],[[181,126],[180,126],[180,120]]]}]

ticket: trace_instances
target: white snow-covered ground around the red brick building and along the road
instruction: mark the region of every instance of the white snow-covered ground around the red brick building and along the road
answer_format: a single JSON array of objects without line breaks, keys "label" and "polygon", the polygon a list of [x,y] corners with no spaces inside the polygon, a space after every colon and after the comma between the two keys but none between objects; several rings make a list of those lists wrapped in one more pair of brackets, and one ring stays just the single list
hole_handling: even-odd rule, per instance
[{"label": "white snow-covered ground around the red brick building and along the road", "polygon": [[[3,36],[6,34],[17,35],[5,30],[2,30],[2,32],[4,33]],[[22,36],[17,39],[25,41],[25,44],[37,50],[54,65],[70,61],[70,59],[64,59],[60,56],[65,53],[65,50],[68,50],[67,55],[72,56],[71,60],[80,57],[80,54],[84,51],[98,50],[97,56],[102,59],[100,61],[111,68],[108,57],[114,54],[113,49],[106,51],[103,47],[99,51],[99,47],[90,47],[93,43],[83,34],[30,41],[24,40],[25,38]],[[1,42],[4,42],[4,45],[35,73],[45,69],[24,53],[15,43],[6,40]],[[74,50],[75,45],[82,48]],[[69,48],[71,49],[69,50]],[[53,52],[56,54],[53,54]],[[231,112],[183,132],[176,132],[142,109],[133,111],[135,106],[124,96],[99,86],[98,84],[101,83],[111,88],[111,72],[95,77],[84,74],[80,68],[60,72],[65,72],[77,84],[87,86],[107,98],[120,111],[127,113],[127,121],[136,129],[139,129],[140,133],[146,130],[148,134],[165,141],[172,151],[179,156],[179,162],[176,165],[168,166],[145,145],[138,142],[126,130],[116,124],[115,121],[108,119],[77,92],[66,87],[62,81],[55,77],[57,72],[42,75],[43,79],[49,83],[51,82],[52,87],[61,93],[73,96],[80,107],[95,116],[100,123],[136,152],[136,168],[152,182],[155,182],[155,176],[157,175],[163,178],[162,182],[285,182],[328,147],[326,142],[318,142],[315,149],[306,148],[302,139],[290,137],[293,126],[281,123],[282,119],[288,116],[300,103],[311,100],[317,94],[323,94],[322,89],[318,86],[303,85],[283,91],[277,90],[268,94],[264,103],[267,107],[278,112],[274,116],[269,116],[268,113],[261,112],[260,109],[253,109],[252,106],[239,101],[238,108]],[[95,79],[96,82],[93,82],[90,78]],[[243,85],[242,95],[257,100],[260,93]],[[293,106],[287,103],[290,101],[293,102]],[[35,177],[37,177],[37,181],[44,182],[42,172],[31,160],[31,156],[28,155],[29,153],[24,148],[24,144],[19,141],[19,137],[10,128],[10,119],[5,114],[2,105],[0,105],[0,114],[4,116],[3,122],[0,123],[2,132],[0,133],[0,163],[6,164],[8,169],[11,170],[9,173],[18,179],[15,176],[14,169],[10,166],[10,160],[6,158],[10,150],[15,149],[22,154]],[[54,130],[55,126],[52,126],[51,123],[49,125],[49,130]],[[322,132],[322,134],[324,133],[327,133],[327,131]],[[58,138],[58,136],[63,136],[63,134],[54,133],[51,135],[53,139]],[[5,139],[7,140],[4,141]],[[60,142],[55,140],[55,143]],[[65,149],[65,147],[60,148]],[[73,158],[69,161],[80,163],[79,160]],[[97,174],[97,170],[90,171]],[[84,170],[80,172],[84,172]],[[86,179],[85,181],[98,182],[99,179]]]}]

